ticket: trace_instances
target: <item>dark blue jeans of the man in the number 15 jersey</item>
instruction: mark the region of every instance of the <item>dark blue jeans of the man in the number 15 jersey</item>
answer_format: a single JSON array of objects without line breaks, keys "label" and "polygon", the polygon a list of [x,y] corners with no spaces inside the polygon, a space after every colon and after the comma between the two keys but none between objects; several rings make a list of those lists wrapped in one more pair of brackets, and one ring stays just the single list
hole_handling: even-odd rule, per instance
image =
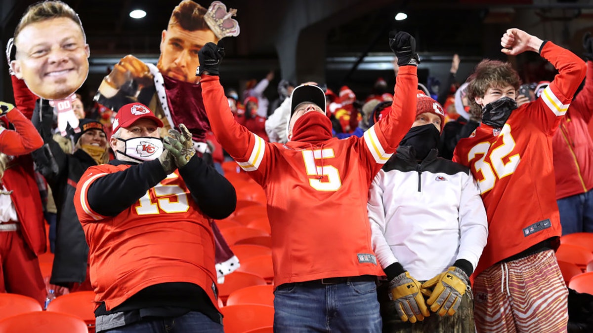
[{"label": "dark blue jeans of the man in the number 15 jersey", "polygon": [[101,333],[224,333],[221,324],[201,312],[188,312],[174,318],[150,318]]}]

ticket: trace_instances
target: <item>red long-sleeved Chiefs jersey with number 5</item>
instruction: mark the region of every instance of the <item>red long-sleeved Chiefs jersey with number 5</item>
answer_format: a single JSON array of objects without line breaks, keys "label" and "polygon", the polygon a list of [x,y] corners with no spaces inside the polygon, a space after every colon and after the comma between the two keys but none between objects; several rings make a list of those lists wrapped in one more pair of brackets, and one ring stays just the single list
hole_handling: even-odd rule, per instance
[{"label": "red long-sleeved Chiefs jersey with number 5", "polygon": [[266,192],[276,286],[383,275],[371,246],[368,189],[414,121],[416,67],[402,66],[397,82],[393,110],[363,137],[282,145],[237,124],[218,76],[202,76],[212,131]]}]

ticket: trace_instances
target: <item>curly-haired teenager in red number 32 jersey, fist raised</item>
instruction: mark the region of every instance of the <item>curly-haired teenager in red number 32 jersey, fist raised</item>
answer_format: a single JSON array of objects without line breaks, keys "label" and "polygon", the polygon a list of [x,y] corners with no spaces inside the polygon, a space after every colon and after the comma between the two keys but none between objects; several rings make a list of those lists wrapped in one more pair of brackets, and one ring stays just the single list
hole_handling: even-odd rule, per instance
[{"label": "curly-haired teenager in red number 32 jersey, fist raised", "polygon": [[508,63],[483,60],[468,81],[482,124],[455,148],[470,167],[489,223],[474,272],[479,332],[566,332],[568,290],[553,249],[560,236],[554,193],[552,137],[579,84],[585,63],[547,40],[512,28],[506,55],[538,52],[558,69],[540,98],[517,108],[519,76]]}]

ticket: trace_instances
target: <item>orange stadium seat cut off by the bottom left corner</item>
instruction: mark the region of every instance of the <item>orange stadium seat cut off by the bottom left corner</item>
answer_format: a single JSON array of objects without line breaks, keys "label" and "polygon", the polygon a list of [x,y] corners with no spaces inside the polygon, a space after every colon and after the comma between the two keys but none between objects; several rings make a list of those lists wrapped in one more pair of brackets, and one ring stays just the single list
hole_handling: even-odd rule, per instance
[{"label": "orange stadium seat cut off by the bottom left corner", "polygon": [[36,311],[4,318],[0,333],[88,333],[85,322],[68,313]]}]

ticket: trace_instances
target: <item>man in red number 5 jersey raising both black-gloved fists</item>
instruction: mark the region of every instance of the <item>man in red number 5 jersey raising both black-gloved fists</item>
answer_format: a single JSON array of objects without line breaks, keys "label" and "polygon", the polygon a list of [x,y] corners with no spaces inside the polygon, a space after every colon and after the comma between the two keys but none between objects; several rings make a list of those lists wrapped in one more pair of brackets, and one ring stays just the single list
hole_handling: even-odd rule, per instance
[{"label": "man in red number 5 jersey raising both black-gloved fists", "polygon": [[391,112],[363,137],[331,137],[326,97],[301,85],[291,97],[288,142],[266,143],[238,124],[219,83],[224,49],[200,50],[198,75],[212,131],[266,191],[272,228],[276,332],[380,332],[375,279],[382,275],[366,212],[375,174],[416,114],[417,55],[407,33],[392,34],[400,62]]}]

